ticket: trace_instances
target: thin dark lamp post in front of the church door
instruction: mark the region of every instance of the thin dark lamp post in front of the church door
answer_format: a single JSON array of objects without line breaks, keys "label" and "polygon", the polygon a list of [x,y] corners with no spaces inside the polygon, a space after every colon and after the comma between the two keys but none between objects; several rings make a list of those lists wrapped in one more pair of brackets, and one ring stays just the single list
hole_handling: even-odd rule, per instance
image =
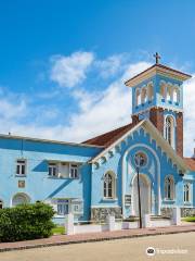
[{"label": "thin dark lamp post in front of the church door", "polygon": [[142,207],[140,197],[140,169],[145,164],[145,159],[140,153],[134,156],[134,164],[136,166],[136,178],[138,178],[138,196],[139,196],[139,217],[140,217],[140,228],[142,228]]}]

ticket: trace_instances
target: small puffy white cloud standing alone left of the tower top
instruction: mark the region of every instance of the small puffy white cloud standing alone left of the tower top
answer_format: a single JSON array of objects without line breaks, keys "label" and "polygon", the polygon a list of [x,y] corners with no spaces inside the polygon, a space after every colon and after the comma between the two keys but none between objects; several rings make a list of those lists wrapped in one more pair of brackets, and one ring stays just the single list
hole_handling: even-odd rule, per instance
[{"label": "small puffy white cloud standing alone left of the tower top", "polygon": [[74,87],[86,78],[86,73],[94,60],[92,52],[74,52],[69,57],[54,55],[51,59],[51,79],[62,87]]}]

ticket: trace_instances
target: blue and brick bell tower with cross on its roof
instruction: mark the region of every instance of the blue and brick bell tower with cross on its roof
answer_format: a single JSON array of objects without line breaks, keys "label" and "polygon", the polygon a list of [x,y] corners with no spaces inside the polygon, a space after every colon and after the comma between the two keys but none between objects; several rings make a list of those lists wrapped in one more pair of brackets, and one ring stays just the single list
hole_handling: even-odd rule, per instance
[{"label": "blue and brick bell tower with cross on its roof", "polygon": [[127,80],[132,88],[132,122],[148,119],[164,138],[183,157],[183,82],[191,75],[156,63]]}]

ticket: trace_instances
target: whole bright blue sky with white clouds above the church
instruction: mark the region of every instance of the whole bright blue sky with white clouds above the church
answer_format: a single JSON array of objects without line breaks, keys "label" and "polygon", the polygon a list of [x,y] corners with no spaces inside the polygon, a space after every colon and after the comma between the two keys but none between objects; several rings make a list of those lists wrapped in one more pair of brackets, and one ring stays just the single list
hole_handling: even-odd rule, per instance
[{"label": "whole bright blue sky with white clouds above the church", "polygon": [[[154,52],[194,75],[194,12],[193,0],[1,1],[0,133],[80,141],[128,123],[122,83]],[[184,86],[187,154],[194,85]]]}]

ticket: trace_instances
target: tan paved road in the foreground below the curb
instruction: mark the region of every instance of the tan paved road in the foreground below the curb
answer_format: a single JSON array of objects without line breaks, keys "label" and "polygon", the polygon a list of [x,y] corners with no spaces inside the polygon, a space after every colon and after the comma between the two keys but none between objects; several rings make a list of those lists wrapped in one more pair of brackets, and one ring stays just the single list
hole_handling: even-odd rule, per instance
[{"label": "tan paved road in the foreground below the curb", "polygon": [[[157,251],[145,253],[147,247]],[[183,253],[165,253],[183,251]],[[120,240],[87,243],[0,253],[1,261],[194,261],[195,233],[148,236]]]}]

